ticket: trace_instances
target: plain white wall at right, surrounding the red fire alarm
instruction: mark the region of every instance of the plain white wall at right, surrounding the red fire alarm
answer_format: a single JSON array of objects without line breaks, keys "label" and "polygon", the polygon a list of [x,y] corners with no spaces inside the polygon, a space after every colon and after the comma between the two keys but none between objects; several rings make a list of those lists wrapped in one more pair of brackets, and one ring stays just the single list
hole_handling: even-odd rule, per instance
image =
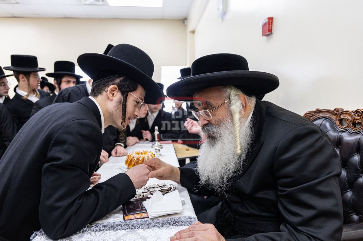
[{"label": "plain white wall at right, surrounding the red fire alarm", "polygon": [[[205,0],[200,0],[205,1]],[[362,0],[228,0],[217,18],[209,0],[195,28],[195,58],[244,56],[249,69],[273,73],[280,86],[264,100],[298,114],[315,108],[363,108]],[[261,20],[274,17],[273,34]]]}]

